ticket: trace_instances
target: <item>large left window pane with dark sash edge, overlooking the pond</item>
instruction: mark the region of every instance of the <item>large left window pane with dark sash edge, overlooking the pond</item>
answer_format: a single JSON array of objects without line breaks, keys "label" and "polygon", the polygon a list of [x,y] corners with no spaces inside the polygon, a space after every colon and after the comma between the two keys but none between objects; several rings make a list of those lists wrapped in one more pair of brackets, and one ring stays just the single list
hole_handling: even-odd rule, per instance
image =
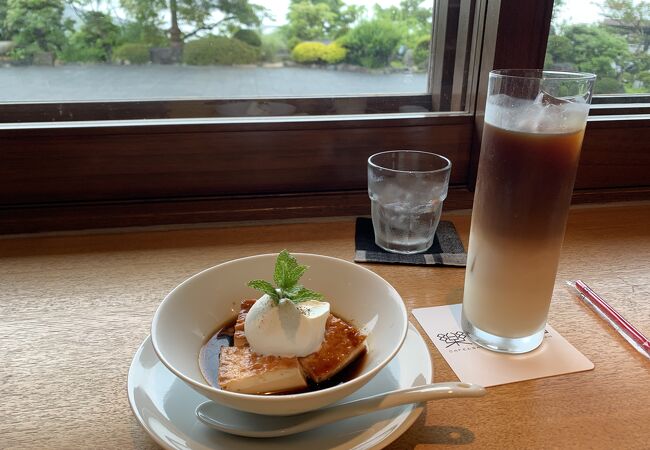
[{"label": "large left window pane with dark sash edge, overlooking the pond", "polygon": [[[309,111],[304,102],[257,99],[352,97],[374,100],[344,101],[335,113],[464,111],[475,3],[0,1],[0,102],[210,100],[226,102],[215,116],[232,117],[331,113],[318,102]],[[194,107],[159,109],[187,117]],[[124,118],[150,117],[137,108]],[[55,117],[46,105],[39,120],[79,120],[79,110]],[[2,119],[11,114],[5,108]],[[16,121],[28,115],[21,107]]]}]

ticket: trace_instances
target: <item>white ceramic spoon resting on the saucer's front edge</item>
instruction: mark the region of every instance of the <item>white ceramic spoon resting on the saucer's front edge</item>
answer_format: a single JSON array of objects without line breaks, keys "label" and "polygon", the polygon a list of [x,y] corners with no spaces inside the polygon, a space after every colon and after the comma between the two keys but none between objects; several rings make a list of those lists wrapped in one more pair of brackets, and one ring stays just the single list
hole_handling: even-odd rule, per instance
[{"label": "white ceramic spoon resting on the saucer's front edge", "polygon": [[196,408],[196,416],[209,427],[247,437],[277,437],[301,433],[337,420],[368,414],[379,409],[451,397],[481,397],[483,387],[470,383],[435,383],[385,392],[347,403],[293,416],[266,416],[237,411],[214,402]]}]

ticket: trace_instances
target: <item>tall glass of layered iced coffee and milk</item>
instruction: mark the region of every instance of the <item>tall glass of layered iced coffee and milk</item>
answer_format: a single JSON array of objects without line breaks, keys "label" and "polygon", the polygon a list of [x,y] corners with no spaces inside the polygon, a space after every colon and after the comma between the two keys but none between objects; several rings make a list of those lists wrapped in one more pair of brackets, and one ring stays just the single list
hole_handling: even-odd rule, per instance
[{"label": "tall glass of layered iced coffee and milk", "polygon": [[485,348],[542,342],[595,78],[490,73],[462,314]]}]

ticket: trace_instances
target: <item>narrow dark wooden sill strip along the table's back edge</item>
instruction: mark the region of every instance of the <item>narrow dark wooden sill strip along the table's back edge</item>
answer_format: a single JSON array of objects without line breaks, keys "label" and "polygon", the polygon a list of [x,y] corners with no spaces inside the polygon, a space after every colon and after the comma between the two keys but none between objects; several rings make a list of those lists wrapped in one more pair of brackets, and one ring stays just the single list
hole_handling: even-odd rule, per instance
[{"label": "narrow dark wooden sill strip along the table's back edge", "polygon": [[[648,188],[586,189],[573,204],[642,201]],[[473,193],[453,187],[444,210],[472,207]],[[0,209],[0,234],[370,215],[363,191],[257,197],[31,205]]]}]

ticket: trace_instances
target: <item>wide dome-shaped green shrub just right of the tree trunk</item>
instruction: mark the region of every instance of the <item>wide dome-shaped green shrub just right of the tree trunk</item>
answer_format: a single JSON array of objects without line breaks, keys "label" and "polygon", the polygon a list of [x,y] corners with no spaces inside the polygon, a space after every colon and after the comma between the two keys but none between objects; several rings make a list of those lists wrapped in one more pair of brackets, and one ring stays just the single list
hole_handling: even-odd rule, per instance
[{"label": "wide dome-shaped green shrub just right of the tree trunk", "polygon": [[259,49],[238,39],[206,36],[187,42],[183,62],[196,66],[211,64],[252,64],[259,60]]}]

